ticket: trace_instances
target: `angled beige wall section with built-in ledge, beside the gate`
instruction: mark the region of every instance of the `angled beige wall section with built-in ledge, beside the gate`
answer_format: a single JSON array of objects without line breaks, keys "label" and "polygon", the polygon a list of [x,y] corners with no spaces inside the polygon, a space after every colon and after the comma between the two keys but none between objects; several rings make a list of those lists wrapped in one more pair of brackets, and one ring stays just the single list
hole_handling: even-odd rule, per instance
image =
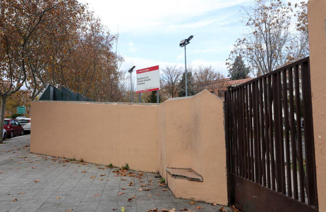
[{"label": "angled beige wall section with built-in ledge, beside the gate", "polygon": [[[223,101],[200,95],[159,105],[160,173],[177,197],[226,205],[226,152]],[[191,168],[203,182],[172,179],[165,168]],[[175,188],[175,189],[174,189]]]}]

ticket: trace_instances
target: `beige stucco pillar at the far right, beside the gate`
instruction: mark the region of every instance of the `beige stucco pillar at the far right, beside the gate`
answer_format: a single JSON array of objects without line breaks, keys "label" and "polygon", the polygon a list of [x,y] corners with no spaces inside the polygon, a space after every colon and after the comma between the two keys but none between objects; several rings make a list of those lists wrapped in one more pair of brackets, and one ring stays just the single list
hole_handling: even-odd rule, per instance
[{"label": "beige stucco pillar at the far right, beside the gate", "polygon": [[326,0],[308,2],[312,112],[319,211],[326,211]]}]

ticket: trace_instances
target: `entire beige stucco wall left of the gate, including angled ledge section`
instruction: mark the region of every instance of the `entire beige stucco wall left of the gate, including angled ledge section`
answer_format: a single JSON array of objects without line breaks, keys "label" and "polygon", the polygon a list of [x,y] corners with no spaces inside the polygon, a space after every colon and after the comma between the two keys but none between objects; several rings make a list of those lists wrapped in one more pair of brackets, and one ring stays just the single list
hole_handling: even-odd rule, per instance
[{"label": "entire beige stucco wall left of the gate, including angled ledge section", "polygon": [[[207,90],[159,105],[36,101],[32,110],[33,153],[128,163],[159,171],[177,197],[228,203],[223,102]],[[191,168],[203,182],[172,182],[167,167]]]}]

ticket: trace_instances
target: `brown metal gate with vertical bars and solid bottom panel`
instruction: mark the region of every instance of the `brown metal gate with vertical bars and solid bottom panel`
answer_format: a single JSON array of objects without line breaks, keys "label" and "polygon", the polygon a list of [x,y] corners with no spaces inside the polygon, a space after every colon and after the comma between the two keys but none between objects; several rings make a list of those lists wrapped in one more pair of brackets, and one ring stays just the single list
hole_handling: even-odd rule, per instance
[{"label": "brown metal gate with vertical bars and solid bottom panel", "polygon": [[309,57],[225,92],[229,203],[317,211]]}]

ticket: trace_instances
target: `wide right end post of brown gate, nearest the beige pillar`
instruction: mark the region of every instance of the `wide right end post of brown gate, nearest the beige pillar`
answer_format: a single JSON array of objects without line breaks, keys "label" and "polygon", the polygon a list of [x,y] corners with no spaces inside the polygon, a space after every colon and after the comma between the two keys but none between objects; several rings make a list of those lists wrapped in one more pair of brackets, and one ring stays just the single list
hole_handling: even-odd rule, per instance
[{"label": "wide right end post of brown gate, nearest the beige pillar", "polygon": [[306,153],[307,196],[308,204],[317,206],[317,182],[315,163],[314,129],[312,119],[311,82],[309,60],[303,62],[301,68],[302,98],[304,110],[304,142]]}]

